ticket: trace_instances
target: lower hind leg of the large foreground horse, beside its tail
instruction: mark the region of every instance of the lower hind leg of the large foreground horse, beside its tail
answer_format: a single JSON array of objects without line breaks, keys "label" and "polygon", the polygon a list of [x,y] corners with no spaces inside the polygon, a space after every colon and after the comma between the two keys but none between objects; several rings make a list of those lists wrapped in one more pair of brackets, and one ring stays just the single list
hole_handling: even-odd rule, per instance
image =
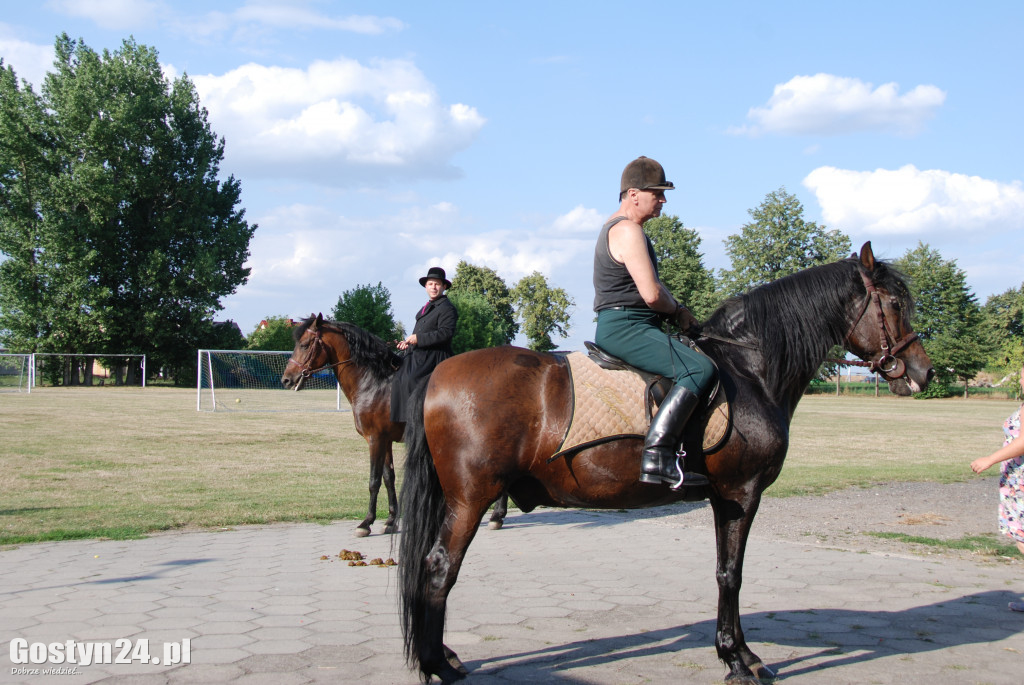
[{"label": "lower hind leg of the large foreground horse, beside its tail", "polygon": [[483,504],[459,505],[449,510],[444,525],[437,541],[427,555],[427,577],[429,586],[428,620],[431,624],[429,653],[420,655],[421,669],[441,679],[442,683],[462,680],[469,671],[459,659],[459,655],[444,644],[444,616],[447,611],[447,597],[459,577],[463,559],[469,544],[479,527],[480,519],[489,506]]}]

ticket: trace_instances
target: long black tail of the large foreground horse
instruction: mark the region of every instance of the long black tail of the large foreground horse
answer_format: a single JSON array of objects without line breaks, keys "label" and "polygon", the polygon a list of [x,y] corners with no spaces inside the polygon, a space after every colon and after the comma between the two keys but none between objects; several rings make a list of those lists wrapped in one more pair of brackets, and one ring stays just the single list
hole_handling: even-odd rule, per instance
[{"label": "long black tail of the large foreground horse", "polygon": [[399,497],[402,522],[398,547],[398,603],[406,660],[420,667],[429,679],[424,661],[431,653],[431,640],[440,641],[437,631],[443,630],[444,604],[437,606],[430,602],[427,555],[444,522],[446,507],[423,425],[423,400],[428,380],[424,379],[413,391],[410,416],[406,421],[406,471]]}]

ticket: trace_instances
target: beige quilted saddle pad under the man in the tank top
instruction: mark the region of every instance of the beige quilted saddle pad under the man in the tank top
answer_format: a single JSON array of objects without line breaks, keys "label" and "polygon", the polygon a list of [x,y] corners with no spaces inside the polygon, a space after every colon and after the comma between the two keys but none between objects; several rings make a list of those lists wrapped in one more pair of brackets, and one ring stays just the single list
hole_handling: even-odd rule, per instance
[{"label": "beige quilted saddle pad under the man in the tank top", "polygon": [[[592,342],[585,345],[589,354],[570,352],[564,357],[572,389],[572,419],[549,462],[612,440],[642,439],[672,388],[672,381],[664,376],[631,367]],[[721,447],[730,425],[725,393],[716,389],[705,412],[691,419],[691,424],[695,422],[703,428],[705,454]]]}]

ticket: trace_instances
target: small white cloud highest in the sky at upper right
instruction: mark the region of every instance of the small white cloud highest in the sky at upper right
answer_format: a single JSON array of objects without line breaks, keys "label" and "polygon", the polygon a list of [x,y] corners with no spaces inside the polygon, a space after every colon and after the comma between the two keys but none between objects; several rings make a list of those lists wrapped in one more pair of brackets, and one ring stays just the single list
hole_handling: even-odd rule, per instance
[{"label": "small white cloud highest in the sky at upper right", "polygon": [[945,98],[942,90],[931,85],[916,86],[901,95],[896,83],[876,88],[859,79],[831,74],[796,76],[776,85],[765,105],[748,112],[751,124],[729,132],[841,135],[883,131],[911,135],[935,115]]}]

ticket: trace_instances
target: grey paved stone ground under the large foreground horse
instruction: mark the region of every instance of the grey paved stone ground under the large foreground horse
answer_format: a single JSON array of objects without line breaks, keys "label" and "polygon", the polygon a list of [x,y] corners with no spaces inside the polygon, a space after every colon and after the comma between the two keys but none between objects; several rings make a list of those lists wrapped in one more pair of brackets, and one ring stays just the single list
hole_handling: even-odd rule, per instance
[{"label": "grey paved stone ground under the large foreground horse", "polygon": [[[449,611],[446,642],[468,682],[721,682],[710,520],[692,506],[663,516],[541,510],[481,530]],[[395,569],[337,557],[397,550],[388,537],[354,538],[353,525],[0,551],[0,683],[413,685]],[[1021,683],[1024,614],[1007,610],[1024,585],[1019,565],[828,549],[756,527],[744,575],[745,634],[779,682]],[[13,665],[16,638],[144,638],[155,655],[187,638],[190,663],[19,675],[52,665]]]}]

